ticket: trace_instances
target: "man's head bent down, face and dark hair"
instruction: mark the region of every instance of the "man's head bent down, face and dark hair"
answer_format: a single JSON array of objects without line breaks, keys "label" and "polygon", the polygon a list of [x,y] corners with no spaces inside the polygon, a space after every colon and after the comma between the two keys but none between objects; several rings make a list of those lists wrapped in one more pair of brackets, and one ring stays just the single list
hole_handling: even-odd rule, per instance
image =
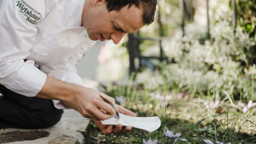
[{"label": "man's head bent down, face and dark hair", "polygon": [[134,33],[154,21],[157,0],[86,0],[82,24],[92,40],[118,44],[126,33]]}]

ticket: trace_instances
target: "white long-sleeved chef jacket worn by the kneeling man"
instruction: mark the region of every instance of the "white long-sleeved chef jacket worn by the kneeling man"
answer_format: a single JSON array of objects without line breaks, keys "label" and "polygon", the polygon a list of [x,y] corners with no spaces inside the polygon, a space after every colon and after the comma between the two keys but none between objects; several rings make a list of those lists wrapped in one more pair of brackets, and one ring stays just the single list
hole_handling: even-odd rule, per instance
[{"label": "white long-sleeved chef jacket worn by the kneeling man", "polygon": [[[3,0],[0,84],[27,97],[39,93],[47,75],[82,85],[75,66],[96,43],[81,27],[84,2]],[[35,63],[41,65],[41,70]],[[67,108],[58,100],[53,104],[58,109]]]}]

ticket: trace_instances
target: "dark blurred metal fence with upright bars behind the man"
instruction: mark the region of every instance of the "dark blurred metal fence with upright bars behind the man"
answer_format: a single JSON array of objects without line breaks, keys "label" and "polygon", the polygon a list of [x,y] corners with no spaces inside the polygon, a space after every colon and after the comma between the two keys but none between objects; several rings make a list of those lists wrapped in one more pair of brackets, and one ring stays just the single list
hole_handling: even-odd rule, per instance
[{"label": "dark blurred metal fence with upright bars behind the man", "polygon": [[[235,28],[236,28],[236,18],[237,18],[237,12],[236,12],[236,0],[231,0],[232,1],[232,10],[233,10],[233,17],[232,17],[232,25],[234,28],[234,32],[235,32]],[[210,28],[209,28],[209,0],[205,0],[206,3],[206,12],[207,12],[207,34],[206,37],[209,40],[210,39]],[[185,0],[179,0],[179,6],[181,9],[181,17],[182,17],[182,21],[181,21],[181,28],[182,28],[182,33],[184,36],[184,18],[185,18]],[[159,7],[160,9],[160,7]],[[160,10],[158,11],[158,20],[157,22],[159,23],[159,36],[158,37],[154,37],[154,38],[150,38],[150,37],[141,37],[139,34],[139,31],[135,34],[128,34],[128,45],[127,48],[129,50],[129,61],[130,61],[130,73],[133,71],[139,71],[140,67],[142,66],[141,61],[145,60],[145,59],[158,59],[160,61],[163,60],[167,60],[167,57],[165,57],[163,55],[163,50],[162,50],[162,46],[161,46],[161,41],[162,40],[168,40],[171,39],[171,37],[163,37],[163,32],[162,32],[162,24],[161,24],[161,16],[160,16]],[[141,52],[139,50],[139,45],[141,44],[142,40],[148,40],[148,41],[159,41],[159,51],[160,51],[160,56],[159,57],[155,57],[155,56],[142,56]],[[135,59],[138,58],[139,59],[139,67],[135,67]]]}]

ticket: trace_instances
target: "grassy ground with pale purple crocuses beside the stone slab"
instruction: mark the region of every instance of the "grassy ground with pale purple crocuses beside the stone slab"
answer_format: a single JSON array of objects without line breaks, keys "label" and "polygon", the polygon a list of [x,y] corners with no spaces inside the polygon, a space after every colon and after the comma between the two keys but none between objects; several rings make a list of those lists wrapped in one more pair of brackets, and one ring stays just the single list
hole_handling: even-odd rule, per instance
[{"label": "grassy ground with pale purple crocuses beside the stone slab", "polygon": [[[109,88],[110,96],[125,96],[126,101],[120,105],[135,112],[138,117],[158,116],[161,126],[158,130],[147,133],[138,129],[119,136],[104,136],[92,123],[88,126],[85,138],[86,143],[143,143],[151,139],[158,139],[159,144],[172,144],[174,138],[169,138],[163,133],[166,130],[174,134],[181,133],[179,143],[205,144],[203,139],[209,139],[216,143],[220,141],[232,144],[256,144],[256,116],[255,109],[245,114],[238,107],[234,107],[235,101],[227,96],[214,109],[206,109],[204,101],[209,101],[207,96],[193,96],[189,94],[179,97],[175,91],[169,91],[168,86],[157,91],[150,91],[143,86],[114,86]],[[232,101],[230,103],[230,100]]]}]

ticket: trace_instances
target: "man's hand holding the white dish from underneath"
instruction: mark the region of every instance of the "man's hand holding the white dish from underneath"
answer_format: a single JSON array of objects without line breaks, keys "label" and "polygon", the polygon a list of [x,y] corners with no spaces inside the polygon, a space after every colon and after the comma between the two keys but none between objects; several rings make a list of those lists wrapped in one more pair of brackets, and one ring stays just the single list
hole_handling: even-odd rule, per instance
[{"label": "man's hand holding the white dish from underneath", "polygon": [[[120,105],[116,105],[116,107],[117,107],[119,113],[122,113],[122,114],[128,115],[128,116],[132,116],[132,117],[136,117],[136,114],[133,113],[132,111],[127,110]],[[101,122],[99,120],[95,120],[95,119],[94,119],[94,122],[104,135],[110,135],[111,133],[114,135],[119,135],[122,130],[127,133],[129,133],[132,130],[131,126],[123,127],[122,124],[120,124],[120,123],[117,124],[116,126],[112,126],[112,125],[103,125],[103,124],[101,124]]]}]

